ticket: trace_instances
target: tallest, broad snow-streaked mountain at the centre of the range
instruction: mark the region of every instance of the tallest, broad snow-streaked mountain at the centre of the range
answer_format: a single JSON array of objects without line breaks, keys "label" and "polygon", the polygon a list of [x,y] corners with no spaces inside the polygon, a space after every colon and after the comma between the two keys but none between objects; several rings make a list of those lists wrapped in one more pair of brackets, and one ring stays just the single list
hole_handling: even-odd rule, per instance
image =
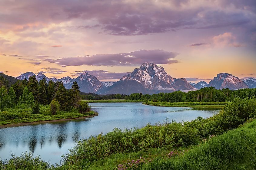
[{"label": "tallest, broad snow-streaked mountain at the centre of the range", "polygon": [[[185,83],[185,85],[183,85]],[[194,89],[185,78],[174,79],[165,72],[163,67],[154,63],[143,63],[135,68],[131,74],[123,76],[114,85],[107,88],[107,94],[121,93],[159,93],[176,90]]]}]

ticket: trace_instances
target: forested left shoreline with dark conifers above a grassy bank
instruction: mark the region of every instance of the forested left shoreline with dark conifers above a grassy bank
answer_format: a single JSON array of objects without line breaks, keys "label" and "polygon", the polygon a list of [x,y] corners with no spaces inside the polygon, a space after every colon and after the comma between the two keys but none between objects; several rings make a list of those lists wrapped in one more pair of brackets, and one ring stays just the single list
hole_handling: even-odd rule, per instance
[{"label": "forested left shoreline with dark conifers above a grassy bank", "polygon": [[[4,80],[4,81],[3,81]],[[39,82],[35,76],[18,80],[11,86],[0,81],[0,125],[70,119],[91,116],[88,103],[82,102],[76,82],[67,90],[63,83]]]}]

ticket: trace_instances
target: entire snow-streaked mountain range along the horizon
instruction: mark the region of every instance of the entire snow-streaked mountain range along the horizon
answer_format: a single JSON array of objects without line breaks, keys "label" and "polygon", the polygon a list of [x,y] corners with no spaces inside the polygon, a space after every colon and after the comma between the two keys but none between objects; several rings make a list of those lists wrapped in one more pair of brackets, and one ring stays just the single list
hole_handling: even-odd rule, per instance
[{"label": "entire snow-streaked mountain range along the horizon", "polygon": [[[19,80],[29,79],[35,75],[32,72],[21,74],[17,77]],[[131,94],[131,93],[160,93],[173,91],[197,90],[204,87],[215,87],[216,89],[229,88],[236,90],[240,88],[255,88],[256,79],[248,78],[241,80],[238,77],[228,73],[217,74],[210,83],[200,81],[198,83],[189,83],[185,78],[173,78],[165,72],[163,67],[158,67],[154,63],[143,63],[140,68],[135,68],[131,74],[124,75],[117,82],[102,83],[94,75],[84,73],[77,78],[63,77],[61,79],[48,78],[42,73],[35,75],[38,81],[45,78],[48,81],[60,81],[67,89],[70,89],[73,82],[76,81],[81,92],[97,94]]]}]

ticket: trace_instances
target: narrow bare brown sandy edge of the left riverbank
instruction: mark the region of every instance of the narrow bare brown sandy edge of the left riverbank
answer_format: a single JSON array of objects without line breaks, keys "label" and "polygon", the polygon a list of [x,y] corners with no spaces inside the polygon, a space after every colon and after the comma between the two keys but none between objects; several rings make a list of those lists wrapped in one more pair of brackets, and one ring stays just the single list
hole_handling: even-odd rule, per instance
[{"label": "narrow bare brown sandy edge of the left riverbank", "polygon": [[41,123],[62,122],[62,121],[75,120],[75,119],[86,119],[86,118],[90,118],[90,117],[94,117],[94,116],[98,116],[98,115],[99,114],[97,112],[94,112],[94,115],[91,115],[91,116],[71,118],[71,119],[57,119],[57,120],[46,120],[46,121],[37,121],[37,122],[28,122],[28,123],[6,124],[6,125],[0,125],[0,128],[15,127],[15,126],[26,126],[26,125],[35,125],[35,124],[41,124]]}]

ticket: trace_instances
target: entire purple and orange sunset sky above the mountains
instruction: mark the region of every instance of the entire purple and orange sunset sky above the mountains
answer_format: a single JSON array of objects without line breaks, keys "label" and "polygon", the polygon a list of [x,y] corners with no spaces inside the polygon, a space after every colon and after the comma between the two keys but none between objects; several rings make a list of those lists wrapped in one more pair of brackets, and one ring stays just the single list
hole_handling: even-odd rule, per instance
[{"label": "entire purple and orange sunset sky above the mountains", "polygon": [[144,62],[174,78],[256,77],[255,0],[1,0],[0,72],[117,81]]}]

